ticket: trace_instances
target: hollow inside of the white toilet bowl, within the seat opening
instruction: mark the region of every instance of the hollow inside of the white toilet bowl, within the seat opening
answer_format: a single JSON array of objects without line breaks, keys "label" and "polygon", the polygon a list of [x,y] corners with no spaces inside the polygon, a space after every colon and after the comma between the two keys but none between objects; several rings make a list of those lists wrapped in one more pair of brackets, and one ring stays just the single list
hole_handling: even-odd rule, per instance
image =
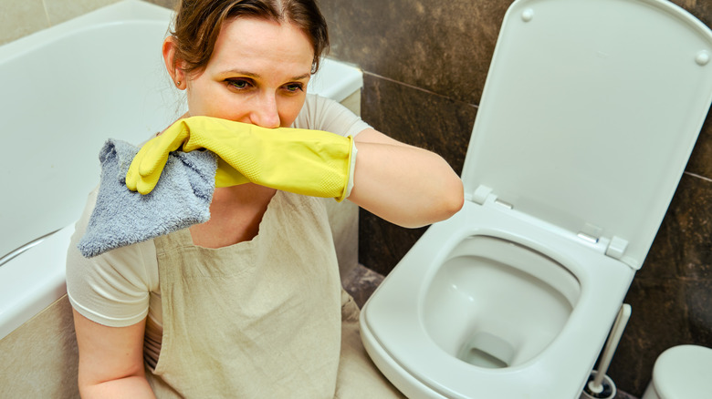
[{"label": "hollow inside of the white toilet bowl, within the seat opening", "polygon": [[563,329],[581,284],[560,262],[489,236],[462,240],[424,295],[426,332],[466,363],[525,363]]}]

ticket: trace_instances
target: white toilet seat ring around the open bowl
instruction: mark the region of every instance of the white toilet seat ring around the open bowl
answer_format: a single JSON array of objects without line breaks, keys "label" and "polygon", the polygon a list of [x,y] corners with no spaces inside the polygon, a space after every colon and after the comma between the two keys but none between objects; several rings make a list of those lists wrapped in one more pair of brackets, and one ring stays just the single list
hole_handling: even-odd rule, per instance
[{"label": "white toilet seat ring around the open bowl", "polygon": [[[577,242],[580,239],[568,240],[522,220],[513,210],[497,208],[494,202],[485,206],[467,202],[455,217],[432,226],[403,258],[402,262],[409,263],[408,268],[396,267],[361,312],[361,333],[367,351],[409,397],[518,397],[523,392],[534,398],[578,397],[620,309],[633,280],[633,269],[606,256],[600,248],[581,246]],[[477,221],[476,227],[473,220]],[[581,297],[560,336],[528,363],[504,369],[478,368],[445,353],[425,331],[424,289],[437,270],[430,265],[441,264],[457,242],[473,235],[512,240],[549,255],[569,268],[581,283]],[[592,341],[600,344],[577,345]],[[578,352],[574,355],[572,350]],[[389,375],[388,369],[395,367],[413,379],[399,381],[403,377],[397,373]],[[532,385],[532,381],[536,384]],[[417,384],[427,387],[430,395],[421,396],[423,387],[415,389]]]}]

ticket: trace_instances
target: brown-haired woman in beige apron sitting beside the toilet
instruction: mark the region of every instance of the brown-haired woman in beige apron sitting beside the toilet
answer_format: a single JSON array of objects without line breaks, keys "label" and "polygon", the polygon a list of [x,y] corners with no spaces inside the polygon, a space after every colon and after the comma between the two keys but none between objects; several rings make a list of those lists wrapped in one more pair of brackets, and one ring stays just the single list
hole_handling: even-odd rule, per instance
[{"label": "brown-haired woman in beige apron sitting beside the toilet", "polygon": [[[313,0],[192,0],[162,54],[185,117],[354,136],[349,200],[405,227],[459,210],[462,184],[443,159],[306,94],[327,46]],[[68,252],[83,397],[397,394],[359,346],[319,200],[215,189],[209,221],[85,259],[75,244],[95,200]]]}]

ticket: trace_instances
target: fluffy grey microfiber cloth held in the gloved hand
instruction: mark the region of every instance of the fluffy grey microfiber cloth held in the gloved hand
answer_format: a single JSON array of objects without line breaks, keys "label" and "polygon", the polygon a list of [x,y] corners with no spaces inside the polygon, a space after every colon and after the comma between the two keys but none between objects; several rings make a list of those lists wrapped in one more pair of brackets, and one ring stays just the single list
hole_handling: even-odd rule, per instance
[{"label": "fluffy grey microfiber cloth held in the gloved hand", "polygon": [[147,195],[126,188],[126,172],[139,148],[109,139],[99,152],[97,204],[79,240],[87,258],[182,230],[210,219],[217,156],[210,151],[174,151],[161,179]]}]

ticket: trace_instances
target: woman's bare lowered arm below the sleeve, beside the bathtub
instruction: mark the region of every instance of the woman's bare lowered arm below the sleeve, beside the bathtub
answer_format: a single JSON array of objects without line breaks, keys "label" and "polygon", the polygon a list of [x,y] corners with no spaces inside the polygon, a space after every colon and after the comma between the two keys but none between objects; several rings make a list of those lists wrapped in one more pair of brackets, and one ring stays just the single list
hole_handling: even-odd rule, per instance
[{"label": "woman's bare lowered arm below the sleeve, beside the bathtub", "polygon": [[145,320],[128,327],[107,327],[73,312],[81,397],[155,398],[143,369]]}]

